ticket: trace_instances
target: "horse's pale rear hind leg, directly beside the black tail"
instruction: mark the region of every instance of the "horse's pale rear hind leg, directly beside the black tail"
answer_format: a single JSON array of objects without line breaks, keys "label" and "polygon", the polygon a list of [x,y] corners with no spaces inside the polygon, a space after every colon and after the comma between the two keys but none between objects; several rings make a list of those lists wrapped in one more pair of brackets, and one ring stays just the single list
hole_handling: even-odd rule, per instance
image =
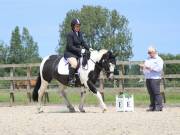
[{"label": "horse's pale rear hind leg, directly beside the black tail", "polygon": [[48,86],[48,82],[45,80],[42,80],[41,82],[41,87],[38,91],[38,103],[39,103],[39,107],[38,107],[38,113],[43,112],[43,107],[42,107],[42,97],[44,95],[45,90],[47,89]]}]

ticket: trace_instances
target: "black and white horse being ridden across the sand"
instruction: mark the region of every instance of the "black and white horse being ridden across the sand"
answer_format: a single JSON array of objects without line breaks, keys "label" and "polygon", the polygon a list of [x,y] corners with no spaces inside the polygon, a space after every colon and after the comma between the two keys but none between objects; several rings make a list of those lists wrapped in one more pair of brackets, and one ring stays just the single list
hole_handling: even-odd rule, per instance
[{"label": "black and white horse being ridden across the sand", "polygon": [[[100,51],[93,50],[90,52],[90,57],[87,60],[86,66],[82,66],[83,58],[80,58],[80,65],[78,68],[78,74],[81,85],[88,88],[97,96],[102,110],[107,109],[105,103],[102,100],[100,92],[96,89],[95,83],[99,77],[100,72],[103,70],[106,73],[107,78],[112,78],[115,67],[115,57],[112,52],[102,49]],[[48,86],[48,83],[52,79],[57,79],[60,82],[59,92],[65,100],[65,103],[70,112],[75,112],[74,107],[69,102],[65,88],[68,84],[68,63],[64,57],[59,55],[51,55],[45,57],[40,65],[40,74],[37,79],[36,86],[33,90],[33,100],[39,102],[38,112],[43,112],[42,108],[42,96]],[[85,112],[83,108],[85,89],[81,89],[81,102],[79,110]]]}]

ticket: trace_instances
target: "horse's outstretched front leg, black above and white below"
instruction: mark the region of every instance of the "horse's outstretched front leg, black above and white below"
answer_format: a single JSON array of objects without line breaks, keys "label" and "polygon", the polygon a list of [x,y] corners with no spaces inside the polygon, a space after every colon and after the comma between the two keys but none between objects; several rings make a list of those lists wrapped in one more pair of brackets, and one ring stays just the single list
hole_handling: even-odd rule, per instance
[{"label": "horse's outstretched front leg, black above and white below", "polygon": [[100,105],[103,109],[102,111],[105,112],[107,110],[107,107],[106,107],[106,104],[104,103],[104,101],[102,99],[101,93],[99,91],[97,91],[96,86],[93,84],[92,81],[88,80],[87,85],[88,85],[89,89],[97,96],[97,98],[100,102]]}]

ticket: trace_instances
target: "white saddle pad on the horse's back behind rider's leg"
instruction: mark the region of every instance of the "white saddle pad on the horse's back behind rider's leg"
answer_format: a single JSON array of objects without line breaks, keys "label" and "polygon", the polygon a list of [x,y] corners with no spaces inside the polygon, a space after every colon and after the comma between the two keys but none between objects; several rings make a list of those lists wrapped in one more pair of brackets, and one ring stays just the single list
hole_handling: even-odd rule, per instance
[{"label": "white saddle pad on the horse's back behind rider's leg", "polygon": [[58,64],[58,73],[61,75],[69,75],[69,63],[62,57]]}]

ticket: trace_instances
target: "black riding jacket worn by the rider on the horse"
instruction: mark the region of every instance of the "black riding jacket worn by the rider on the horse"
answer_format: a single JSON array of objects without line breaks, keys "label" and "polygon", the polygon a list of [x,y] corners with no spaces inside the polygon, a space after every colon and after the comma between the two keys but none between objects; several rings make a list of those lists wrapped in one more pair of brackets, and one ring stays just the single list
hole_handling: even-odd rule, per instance
[{"label": "black riding jacket worn by the rider on the horse", "polygon": [[81,56],[81,49],[85,48],[89,50],[89,46],[85,43],[82,37],[82,33],[71,31],[67,34],[67,45],[64,53],[65,58],[75,57],[79,58]]}]

